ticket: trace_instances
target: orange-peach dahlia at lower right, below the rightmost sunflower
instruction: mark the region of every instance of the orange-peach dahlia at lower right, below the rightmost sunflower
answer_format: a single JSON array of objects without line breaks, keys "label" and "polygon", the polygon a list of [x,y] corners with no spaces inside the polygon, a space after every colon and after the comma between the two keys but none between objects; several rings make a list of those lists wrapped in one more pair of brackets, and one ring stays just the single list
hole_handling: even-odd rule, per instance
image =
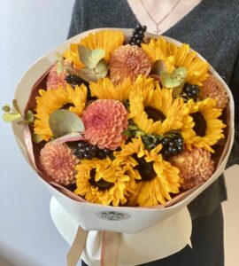
[{"label": "orange-peach dahlia at lower right, below the rightmost sunflower", "polygon": [[193,148],[192,151],[185,150],[175,155],[171,163],[180,169],[180,176],[183,180],[181,187],[185,190],[204,183],[214,171],[211,153],[201,148]]}]

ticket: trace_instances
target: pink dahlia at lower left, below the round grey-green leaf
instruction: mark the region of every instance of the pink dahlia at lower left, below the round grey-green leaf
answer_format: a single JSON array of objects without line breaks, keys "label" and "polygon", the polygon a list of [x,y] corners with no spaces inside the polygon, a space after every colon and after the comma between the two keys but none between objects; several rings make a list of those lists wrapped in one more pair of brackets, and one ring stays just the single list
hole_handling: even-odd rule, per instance
[{"label": "pink dahlia at lower left, below the round grey-green leaf", "polygon": [[73,184],[74,168],[78,159],[73,155],[71,149],[64,144],[55,145],[47,143],[40,153],[40,164],[42,170],[58,184]]}]

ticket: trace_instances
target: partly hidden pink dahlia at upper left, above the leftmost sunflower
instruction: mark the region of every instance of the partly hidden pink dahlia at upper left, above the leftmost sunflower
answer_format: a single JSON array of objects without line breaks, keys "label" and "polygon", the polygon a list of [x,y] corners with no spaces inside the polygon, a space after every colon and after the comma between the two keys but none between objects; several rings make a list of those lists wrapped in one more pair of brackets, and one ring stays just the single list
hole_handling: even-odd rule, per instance
[{"label": "partly hidden pink dahlia at upper left, above the leftmost sunflower", "polygon": [[58,89],[58,86],[66,86],[66,72],[63,71],[62,73],[58,74],[57,72],[57,65],[51,66],[50,73],[47,77],[47,90],[54,90]]}]

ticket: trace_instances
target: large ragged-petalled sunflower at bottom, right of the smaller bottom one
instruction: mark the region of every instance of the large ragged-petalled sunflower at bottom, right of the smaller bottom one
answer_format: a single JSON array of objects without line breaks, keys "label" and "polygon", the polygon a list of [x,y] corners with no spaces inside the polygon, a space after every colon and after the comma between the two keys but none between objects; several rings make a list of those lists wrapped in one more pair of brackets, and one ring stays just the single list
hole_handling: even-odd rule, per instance
[{"label": "large ragged-petalled sunflower at bottom, right of the smaller bottom one", "polygon": [[148,151],[138,137],[114,153],[115,160],[121,167],[125,165],[126,174],[130,177],[126,188],[130,205],[166,204],[166,200],[171,200],[170,193],[179,192],[179,169],[163,160],[159,153],[161,148],[162,145],[158,145]]}]

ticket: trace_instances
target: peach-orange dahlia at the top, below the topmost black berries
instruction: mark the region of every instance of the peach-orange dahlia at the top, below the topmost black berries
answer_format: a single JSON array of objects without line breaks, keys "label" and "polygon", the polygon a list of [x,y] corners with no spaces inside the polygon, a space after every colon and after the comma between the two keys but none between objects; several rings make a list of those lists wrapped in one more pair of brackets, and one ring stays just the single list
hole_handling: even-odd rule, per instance
[{"label": "peach-orange dahlia at the top, below the topmost black berries", "polygon": [[122,45],[112,52],[110,74],[114,83],[122,82],[127,77],[134,82],[139,74],[150,74],[150,68],[149,56],[136,45]]}]

